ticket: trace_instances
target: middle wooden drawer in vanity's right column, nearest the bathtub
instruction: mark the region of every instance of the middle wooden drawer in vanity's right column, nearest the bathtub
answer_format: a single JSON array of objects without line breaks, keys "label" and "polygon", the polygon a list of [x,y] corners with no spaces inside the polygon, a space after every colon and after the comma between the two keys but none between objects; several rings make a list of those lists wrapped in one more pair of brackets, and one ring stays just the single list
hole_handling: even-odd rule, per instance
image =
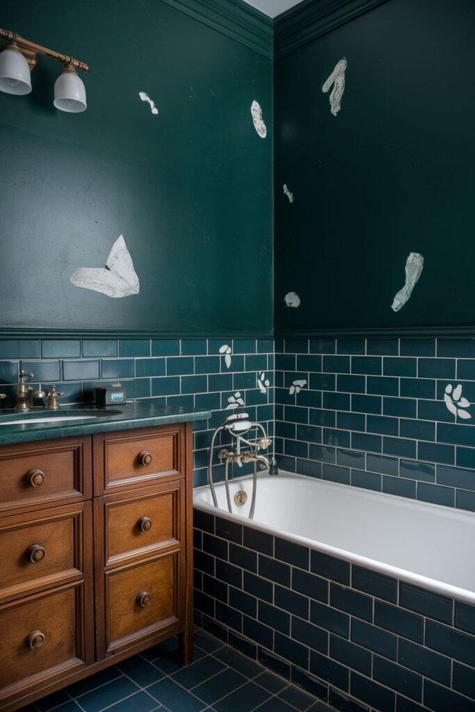
[{"label": "middle wooden drawer in vanity's right column, nearest the bathtub", "polygon": [[103,517],[106,566],[177,548],[184,538],[184,480],[98,498],[95,507],[97,519]]}]

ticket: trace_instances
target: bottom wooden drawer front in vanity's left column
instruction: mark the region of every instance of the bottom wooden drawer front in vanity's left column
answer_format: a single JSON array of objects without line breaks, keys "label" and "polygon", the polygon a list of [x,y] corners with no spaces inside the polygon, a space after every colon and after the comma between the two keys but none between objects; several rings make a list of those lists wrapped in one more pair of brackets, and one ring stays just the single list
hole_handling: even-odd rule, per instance
[{"label": "bottom wooden drawer front in vanity's left column", "polygon": [[83,668],[83,621],[80,583],[0,607],[0,701]]}]

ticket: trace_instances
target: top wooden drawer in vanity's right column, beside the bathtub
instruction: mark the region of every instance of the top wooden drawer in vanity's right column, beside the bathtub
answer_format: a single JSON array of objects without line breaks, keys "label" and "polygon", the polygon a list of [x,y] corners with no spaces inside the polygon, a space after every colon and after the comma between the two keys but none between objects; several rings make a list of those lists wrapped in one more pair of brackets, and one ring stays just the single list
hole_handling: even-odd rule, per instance
[{"label": "top wooden drawer in vanity's right column, beside the bathtub", "polygon": [[184,477],[183,426],[95,435],[94,465],[96,496]]}]

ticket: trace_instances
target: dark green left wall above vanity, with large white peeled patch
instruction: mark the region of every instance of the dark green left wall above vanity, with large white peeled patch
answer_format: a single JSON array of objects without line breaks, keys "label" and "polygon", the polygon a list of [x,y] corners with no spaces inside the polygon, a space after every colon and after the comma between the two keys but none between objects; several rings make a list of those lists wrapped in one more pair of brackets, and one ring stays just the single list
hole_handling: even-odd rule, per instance
[{"label": "dark green left wall above vanity, with large white peeled patch", "polygon": [[[161,0],[3,0],[0,26],[92,68],[84,114],[53,108],[44,57],[0,94],[0,327],[271,332],[271,61]],[[140,295],[73,286],[120,234]]]}]

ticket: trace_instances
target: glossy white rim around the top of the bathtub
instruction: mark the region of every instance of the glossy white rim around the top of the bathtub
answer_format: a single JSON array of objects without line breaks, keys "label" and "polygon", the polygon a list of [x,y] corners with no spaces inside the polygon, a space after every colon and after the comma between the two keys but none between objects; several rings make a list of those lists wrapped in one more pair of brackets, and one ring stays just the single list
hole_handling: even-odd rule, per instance
[{"label": "glossy white rim around the top of the bathtub", "polygon": [[[338,488],[345,488],[345,489],[350,489],[354,490],[355,488],[351,485],[344,485],[340,484],[338,482],[327,482],[325,480],[321,480],[320,478],[316,477],[311,477],[308,475],[300,475],[297,473],[293,472],[287,472],[287,471],[280,471],[277,477],[279,476],[286,476],[291,479],[305,479],[305,480],[311,480],[311,481],[316,481],[318,483],[327,483],[330,485],[335,485]],[[259,478],[266,478],[268,477],[268,473],[259,473]],[[237,476],[234,477],[233,481],[249,481],[252,479],[252,475],[244,475],[242,477]],[[216,482],[216,486],[224,486],[224,482]],[[365,490],[362,490],[360,488],[357,488],[358,491],[365,492]],[[387,576],[390,576],[392,578],[395,578],[397,580],[401,580],[404,582],[407,582],[412,585],[416,585],[425,589],[428,589],[430,591],[433,591],[434,593],[438,593],[439,595],[445,596],[447,598],[452,598],[464,603],[468,603],[471,605],[475,605],[475,591],[470,591],[466,590],[464,588],[459,588],[458,586],[453,586],[448,583],[444,583],[442,581],[438,581],[436,579],[429,578],[427,576],[423,576],[421,574],[416,574],[413,573],[412,571],[407,571],[405,569],[400,569],[397,566],[392,566],[390,564],[385,564],[384,562],[377,561],[375,559],[370,559],[368,557],[362,556],[360,554],[354,554],[353,552],[347,551],[345,549],[340,549],[338,547],[330,546],[329,544],[324,544],[323,542],[318,542],[312,539],[308,539],[307,537],[300,536],[298,534],[293,534],[293,533],[288,533],[288,532],[283,532],[280,530],[277,530],[274,527],[271,527],[267,524],[261,524],[260,522],[254,522],[253,520],[250,520],[247,517],[241,517],[240,515],[237,514],[230,514],[229,512],[226,512],[223,509],[216,508],[212,503],[207,503],[203,501],[199,501],[199,494],[204,492],[204,491],[209,491],[209,485],[202,485],[200,487],[195,487],[193,490],[193,506],[194,508],[197,508],[199,511],[204,511],[209,514],[212,514],[214,516],[222,517],[224,519],[228,519],[233,522],[238,522],[241,523],[243,526],[249,526],[252,529],[256,529],[259,531],[266,532],[268,534],[271,534],[274,537],[278,537],[280,539],[286,539],[287,541],[295,542],[298,544],[302,544],[310,549],[313,549],[315,551],[320,551],[322,553],[328,554],[330,556],[334,556],[338,559],[343,559],[345,561],[349,561],[350,563],[357,564],[359,566],[368,568],[372,571],[376,571],[378,573],[385,574]],[[377,494],[380,496],[384,497],[394,497],[397,498],[397,500],[404,501],[404,503],[407,503],[408,500],[407,497],[400,497],[397,495],[392,495],[392,494],[386,494],[384,492],[373,492],[368,490],[368,492],[371,492],[372,494]],[[414,500],[415,503],[419,505],[424,505],[424,507],[427,507],[429,509],[434,509],[442,507],[444,511],[449,511],[452,514],[459,514],[459,515],[469,515],[469,512],[466,512],[464,510],[454,510],[452,507],[444,507],[442,505],[438,504],[432,504],[429,502],[421,502],[419,500]],[[395,604],[399,605],[399,604]]]}]

